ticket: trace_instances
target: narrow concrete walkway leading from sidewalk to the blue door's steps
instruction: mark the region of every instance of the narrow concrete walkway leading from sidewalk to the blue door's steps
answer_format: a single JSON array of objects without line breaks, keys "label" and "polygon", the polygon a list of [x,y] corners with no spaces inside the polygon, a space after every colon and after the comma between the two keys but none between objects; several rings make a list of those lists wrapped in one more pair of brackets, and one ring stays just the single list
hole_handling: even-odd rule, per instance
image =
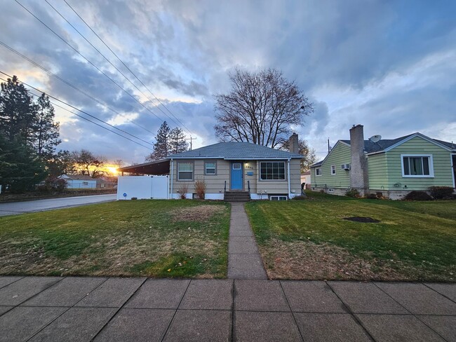
[{"label": "narrow concrete walkway leading from sidewalk to the blue door's steps", "polygon": [[267,279],[257,242],[248,223],[243,203],[231,203],[229,223],[228,278]]}]

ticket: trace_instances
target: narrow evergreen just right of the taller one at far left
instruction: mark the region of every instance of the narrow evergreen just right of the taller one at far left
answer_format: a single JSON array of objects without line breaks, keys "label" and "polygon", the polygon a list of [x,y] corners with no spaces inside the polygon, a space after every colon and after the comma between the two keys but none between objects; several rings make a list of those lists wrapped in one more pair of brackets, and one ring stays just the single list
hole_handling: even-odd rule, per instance
[{"label": "narrow evergreen just right of the taller one at far left", "polygon": [[54,107],[46,94],[41,94],[36,102],[34,118],[33,142],[34,149],[43,160],[52,158],[55,146],[60,144],[59,123],[54,122]]}]

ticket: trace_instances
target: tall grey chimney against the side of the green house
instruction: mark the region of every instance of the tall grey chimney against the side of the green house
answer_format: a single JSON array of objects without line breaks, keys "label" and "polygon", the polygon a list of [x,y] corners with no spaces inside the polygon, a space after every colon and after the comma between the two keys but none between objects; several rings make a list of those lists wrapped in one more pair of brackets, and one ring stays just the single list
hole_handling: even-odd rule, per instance
[{"label": "tall grey chimney against the side of the green house", "polygon": [[350,129],[351,165],[350,186],[365,196],[369,188],[368,158],[364,154],[364,127],[353,125]]}]

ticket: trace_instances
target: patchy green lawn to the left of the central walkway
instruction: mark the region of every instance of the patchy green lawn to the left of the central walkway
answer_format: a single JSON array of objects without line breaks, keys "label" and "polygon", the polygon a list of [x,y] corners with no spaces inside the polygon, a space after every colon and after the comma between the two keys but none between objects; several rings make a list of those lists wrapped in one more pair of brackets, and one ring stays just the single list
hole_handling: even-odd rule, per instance
[{"label": "patchy green lawn to the left of the central walkway", "polygon": [[129,200],[0,217],[0,274],[224,278],[229,205]]}]

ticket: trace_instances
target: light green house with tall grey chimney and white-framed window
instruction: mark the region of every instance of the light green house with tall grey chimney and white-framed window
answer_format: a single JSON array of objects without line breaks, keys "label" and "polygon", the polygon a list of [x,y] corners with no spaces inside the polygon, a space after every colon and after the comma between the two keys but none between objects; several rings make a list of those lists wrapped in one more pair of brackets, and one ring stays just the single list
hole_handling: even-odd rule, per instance
[{"label": "light green house with tall grey chimney and white-framed window", "polygon": [[451,142],[419,132],[364,140],[363,126],[355,125],[349,140],[338,140],[326,158],[311,165],[311,189],[337,195],[357,189],[362,195],[400,199],[429,186],[455,188],[455,165],[456,145]]}]

